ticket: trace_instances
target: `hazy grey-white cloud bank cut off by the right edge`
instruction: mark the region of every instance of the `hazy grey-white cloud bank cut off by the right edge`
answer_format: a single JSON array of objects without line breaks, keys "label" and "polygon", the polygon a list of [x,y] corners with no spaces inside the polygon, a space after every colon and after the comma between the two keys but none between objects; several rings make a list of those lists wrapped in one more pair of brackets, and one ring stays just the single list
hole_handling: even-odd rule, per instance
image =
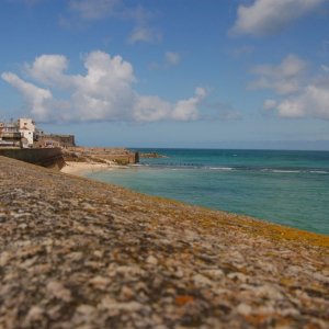
[{"label": "hazy grey-white cloud bank cut off by the right edge", "polygon": [[270,89],[279,97],[265,100],[263,109],[275,111],[282,117],[329,120],[329,77],[319,76],[307,81],[303,75],[305,68],[306,63],[293,55],[277,66],[254,68],[253,72],[260,78],[251,87]]}]

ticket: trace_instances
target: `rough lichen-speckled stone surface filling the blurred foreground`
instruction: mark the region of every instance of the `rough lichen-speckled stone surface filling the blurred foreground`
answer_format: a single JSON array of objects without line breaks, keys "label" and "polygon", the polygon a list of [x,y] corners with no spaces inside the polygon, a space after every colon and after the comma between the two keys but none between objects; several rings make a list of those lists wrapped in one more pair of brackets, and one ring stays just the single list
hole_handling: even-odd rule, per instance
[{"label": "rough lichen-speckled stone surface filling the blurred foreground", "polygon": [[0,328],[329,328],[329,237],[0,157]]}]

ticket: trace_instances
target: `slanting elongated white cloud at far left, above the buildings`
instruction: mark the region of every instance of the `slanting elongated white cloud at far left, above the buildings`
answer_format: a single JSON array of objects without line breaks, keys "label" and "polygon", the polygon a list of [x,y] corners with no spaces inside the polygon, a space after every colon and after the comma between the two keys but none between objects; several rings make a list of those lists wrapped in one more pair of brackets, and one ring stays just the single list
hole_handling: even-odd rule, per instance
[{"label": "slanting elongated white cloud at far left, above the buildings", "polygon": [[39,120],[52,117],[48,106],[53,100],[53,94],[48,89],[38,88],[32,83],[25,82],[11,72],[3,72],[1,78],[23,94],[30,105],[31,114],[33,116]]}]

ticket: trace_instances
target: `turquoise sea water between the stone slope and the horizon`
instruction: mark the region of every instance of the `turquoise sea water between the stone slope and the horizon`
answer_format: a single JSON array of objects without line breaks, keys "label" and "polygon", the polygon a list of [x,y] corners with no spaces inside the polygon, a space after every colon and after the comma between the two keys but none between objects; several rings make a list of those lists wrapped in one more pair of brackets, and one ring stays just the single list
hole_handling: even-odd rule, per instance
[{"label": "turquoise sea water between the stone slope and the horizon", "polygon": [[167,158],[89,177],[329,235],[328,151],[139,150]]}]

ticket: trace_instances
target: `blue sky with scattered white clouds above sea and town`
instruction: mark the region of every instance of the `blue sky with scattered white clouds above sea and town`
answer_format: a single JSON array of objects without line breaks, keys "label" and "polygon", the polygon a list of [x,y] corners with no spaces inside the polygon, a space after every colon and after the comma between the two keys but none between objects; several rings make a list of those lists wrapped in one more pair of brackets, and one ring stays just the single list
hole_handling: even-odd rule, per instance
[{"label": "blue sky with scattered white clouds above sea and town", "polygon": [[0,121],[83,146],[329,150],[329,0],[1,0]]}]

